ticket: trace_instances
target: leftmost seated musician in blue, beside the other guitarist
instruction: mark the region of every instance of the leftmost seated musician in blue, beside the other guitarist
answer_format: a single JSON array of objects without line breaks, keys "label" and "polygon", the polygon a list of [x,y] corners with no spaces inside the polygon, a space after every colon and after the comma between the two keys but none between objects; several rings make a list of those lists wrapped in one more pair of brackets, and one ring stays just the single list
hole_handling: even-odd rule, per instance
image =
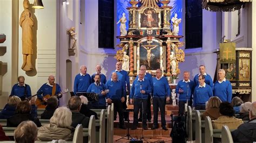
[{"label": "leftmost seated musician in blue, beside the other guitarist", "polygon": [[14,95],[21,98],[22,101],[24,101],[25,98],[31,96],[30,86],[28,84],[25,84],[24,76],[19,76],[18,83],[14,84],[14,86],[12,87],[10,96]]}]

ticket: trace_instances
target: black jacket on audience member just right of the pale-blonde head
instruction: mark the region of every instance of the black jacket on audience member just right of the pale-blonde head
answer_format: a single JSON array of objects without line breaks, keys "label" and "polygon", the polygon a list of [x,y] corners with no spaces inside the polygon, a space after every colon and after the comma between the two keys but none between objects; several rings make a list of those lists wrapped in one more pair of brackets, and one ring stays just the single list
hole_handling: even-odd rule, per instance
[{"label": "black jacket on audience member just right of the pale-blonde head", "polygon": [[82,113],[72,111],[72,124],[71,126],[76,128],[78,124],[82,124],[83,128],[88,127],[90,118],[84,116]]}]

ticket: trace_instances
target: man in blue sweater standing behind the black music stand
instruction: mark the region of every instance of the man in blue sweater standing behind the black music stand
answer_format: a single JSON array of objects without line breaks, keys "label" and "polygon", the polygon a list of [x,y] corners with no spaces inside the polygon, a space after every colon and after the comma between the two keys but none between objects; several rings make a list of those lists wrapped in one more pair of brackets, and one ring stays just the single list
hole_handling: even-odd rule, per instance
[{"label": "man in blue sweater standing behind the black music stand", "polygon": [[95,82],[91,83],[87,92],[93,92],[99,95],[98,102],[89,102],[89,109],[106,109],[106,85],[100,82],[100,75],[96,74]]}]

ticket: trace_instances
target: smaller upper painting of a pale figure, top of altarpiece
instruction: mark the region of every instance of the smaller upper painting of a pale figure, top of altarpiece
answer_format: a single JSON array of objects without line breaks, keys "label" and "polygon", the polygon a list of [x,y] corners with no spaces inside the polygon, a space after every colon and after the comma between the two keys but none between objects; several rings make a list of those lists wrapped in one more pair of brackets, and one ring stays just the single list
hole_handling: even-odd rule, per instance
[{"label": "smaller upper painting of a pale figure, top of altarpiece", "polygon": [[159,13],[154,9],[146,9],[140,13],[140,27],[159,27]]}]

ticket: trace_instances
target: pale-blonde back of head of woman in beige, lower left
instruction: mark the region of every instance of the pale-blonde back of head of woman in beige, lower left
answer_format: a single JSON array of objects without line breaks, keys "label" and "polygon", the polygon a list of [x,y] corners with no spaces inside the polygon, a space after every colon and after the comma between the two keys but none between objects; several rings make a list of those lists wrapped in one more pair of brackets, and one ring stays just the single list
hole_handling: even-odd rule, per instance
[{"label": "pale-blonde back of head of woman in beige, lower left", "polygon": [[72,124],[72,113],[66,107],[60,107],[55,110],[50,119],[51,124],[56,124],[58,127],[70,127]]}]

